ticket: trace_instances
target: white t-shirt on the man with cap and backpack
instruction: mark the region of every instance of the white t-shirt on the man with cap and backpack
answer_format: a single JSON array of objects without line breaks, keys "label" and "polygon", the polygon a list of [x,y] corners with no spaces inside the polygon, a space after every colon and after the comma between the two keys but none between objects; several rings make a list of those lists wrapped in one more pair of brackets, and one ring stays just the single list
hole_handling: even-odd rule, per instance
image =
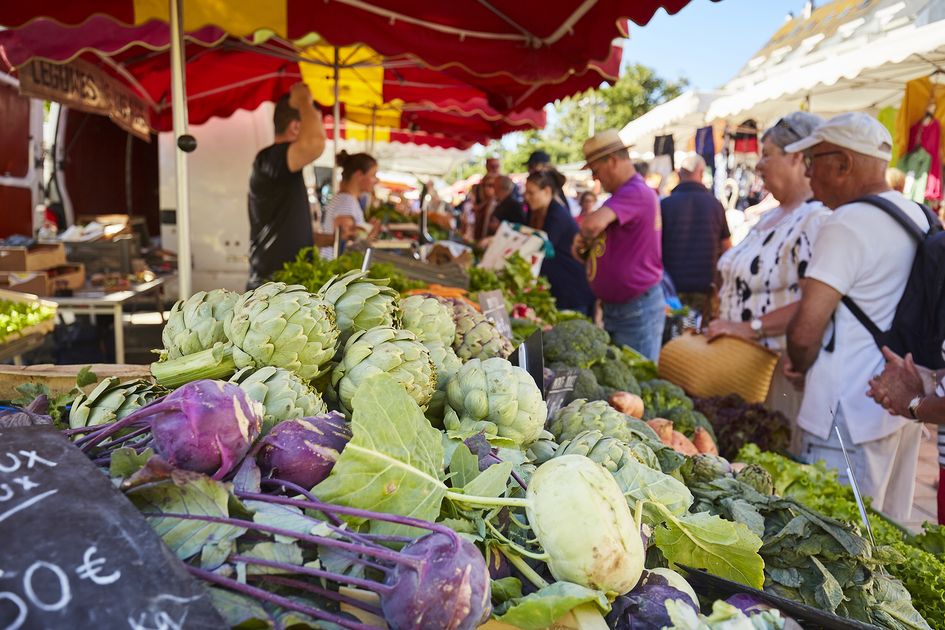
[{"label": "white t-shirt on the man with cap and backpack", "polygon": [[[922,209],[895,191],[882,193],[923,230]],[[881,330],[892,324],[896,305],[912,269],[916,244],[895,219],[881,209],[851,203],[837,208],[820,226],[807,277],[819,280],[854,302]],[[847,430],[856,444],[878,440],[910,422],[893,416],[866,396],[869,379],[883,369],[883,355],[866,328],[840,304],[823,345],[835,338],[833,352],[821,348],[807,373],[798,425],[826,439],[833,415],[842,406]]]}]

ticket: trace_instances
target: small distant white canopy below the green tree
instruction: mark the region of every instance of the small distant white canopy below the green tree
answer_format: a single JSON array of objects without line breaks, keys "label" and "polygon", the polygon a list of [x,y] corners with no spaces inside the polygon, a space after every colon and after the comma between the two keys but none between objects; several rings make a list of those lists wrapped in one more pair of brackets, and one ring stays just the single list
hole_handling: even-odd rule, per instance
[{"label": "small distant white canopy below the green tree", "polygon": [[620,130],[620,139],[632,145],[634,153],[651,157],[656,136],[672,134],[677,139],[690,138],[696,129],[706,126],[706,110],[718,96],[719,92],[711,90],[680,94],[628,123]]}]

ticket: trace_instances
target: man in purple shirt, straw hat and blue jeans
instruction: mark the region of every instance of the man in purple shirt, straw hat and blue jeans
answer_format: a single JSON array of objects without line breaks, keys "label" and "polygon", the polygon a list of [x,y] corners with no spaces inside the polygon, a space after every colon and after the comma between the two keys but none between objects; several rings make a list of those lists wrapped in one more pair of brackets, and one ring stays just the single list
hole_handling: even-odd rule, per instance
[{"label": "man in purple shirt, straw hat and blue jeans", "polygon": [[588,281],[601,300],[604,328],[614,343],[656,361],[666,316],[659,198],[634,169],[615,129],[589,138],[584,157],[586,168],[611,196],[584,218],[574,254],[587,263]]}]

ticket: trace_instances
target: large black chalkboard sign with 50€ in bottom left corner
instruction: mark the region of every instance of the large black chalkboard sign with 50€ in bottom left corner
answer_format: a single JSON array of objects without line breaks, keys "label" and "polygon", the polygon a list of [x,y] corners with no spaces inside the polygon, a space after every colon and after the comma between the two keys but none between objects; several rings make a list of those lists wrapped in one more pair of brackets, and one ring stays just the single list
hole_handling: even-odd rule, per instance
[{"label": "large black chalkboard sign with 50\u20ac in bottom left corner", "polygon": [[0,430],[0,628],[223,628],[138,510],[51,427]]}]

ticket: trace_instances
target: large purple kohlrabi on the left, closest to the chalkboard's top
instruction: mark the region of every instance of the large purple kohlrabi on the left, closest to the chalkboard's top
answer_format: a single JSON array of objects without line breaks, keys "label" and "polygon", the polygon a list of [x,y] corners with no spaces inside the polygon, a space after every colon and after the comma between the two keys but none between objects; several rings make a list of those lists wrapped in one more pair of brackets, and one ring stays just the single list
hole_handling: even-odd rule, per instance
[{"label": "large purple kohlrabi on the left, closest to the chalkboard's top", "polygon": [[222,479],[259,437],[263,412],[239,386],[204,379],[132,415],[151,425],[154,449],[172,466]]}]

